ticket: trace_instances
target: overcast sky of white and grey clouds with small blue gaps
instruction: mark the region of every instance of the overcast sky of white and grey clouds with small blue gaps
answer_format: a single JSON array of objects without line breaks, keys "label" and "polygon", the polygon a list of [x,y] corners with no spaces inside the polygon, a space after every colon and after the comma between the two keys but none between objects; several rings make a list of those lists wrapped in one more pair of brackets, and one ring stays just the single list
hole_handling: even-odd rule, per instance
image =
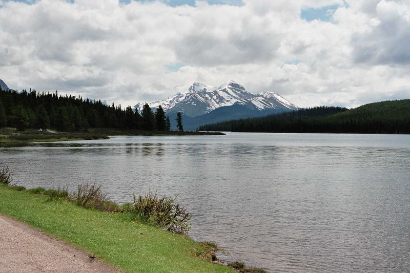
[{"label": "overcast sky of white and grey clouds with small blue gaps", "polygon": [[234,79],[300,107],[410,98],[410,0],[0,0],[0,78],[122,106]]}]

